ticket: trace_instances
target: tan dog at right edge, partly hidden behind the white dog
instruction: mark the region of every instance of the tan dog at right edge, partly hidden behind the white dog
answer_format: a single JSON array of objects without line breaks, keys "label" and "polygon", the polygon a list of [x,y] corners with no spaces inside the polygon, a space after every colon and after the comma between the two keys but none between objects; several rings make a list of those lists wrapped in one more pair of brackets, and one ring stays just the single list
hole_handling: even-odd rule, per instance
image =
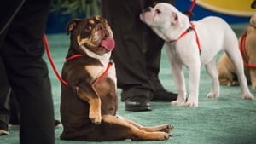
[{"label": "tan dog at right edge, partly hidden behind the white dog", "polygon": [[[250,19],[250,26],[239,38],[244,70],[248,82],[256,89],[256,14]],[[225,53],[218,60],[218,78],[222,85],[237,85],[236,68]]]}]

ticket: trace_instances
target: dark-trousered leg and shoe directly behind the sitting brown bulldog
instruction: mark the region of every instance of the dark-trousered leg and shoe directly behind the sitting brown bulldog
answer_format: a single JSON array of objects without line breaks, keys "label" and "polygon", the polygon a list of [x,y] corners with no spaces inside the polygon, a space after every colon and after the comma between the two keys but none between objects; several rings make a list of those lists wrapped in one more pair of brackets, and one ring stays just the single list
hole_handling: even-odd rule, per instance
[{"label": "dark-trousered leg and shoe directly behind the sitting brown bulldog", "polygon": [[122,89],[126,110],[131,111],[149,110],[149,99],[153,96],[142,43],[147,27],[139,20],[143,8],[143,0],[102,0],[102,15],[112,27],[116,41],[113,60],[118,87]]}]

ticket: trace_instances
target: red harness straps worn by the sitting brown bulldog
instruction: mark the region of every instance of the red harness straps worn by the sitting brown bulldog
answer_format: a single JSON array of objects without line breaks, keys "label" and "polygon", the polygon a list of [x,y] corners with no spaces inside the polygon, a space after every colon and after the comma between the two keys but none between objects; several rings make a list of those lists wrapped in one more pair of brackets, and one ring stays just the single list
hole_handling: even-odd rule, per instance
[{"label": "red harness straps worn by the sitting brown bulldog", "polygon": [[[76,58],[79,58],[79,57],[83,57],[83,56],[84,55],[81,55],[81,54],[72,55],[72,56],[67,57],[66,61],[73,60],[73,59],[76,59]],[[102,79],[106,77],[106,75],[108,74],[108,70],[110,69],[112,64],[113,64],[113,60],[109,60],[108,66],[107,66],[106,70],[104,72],[102,72],[102,74],[98,78],[96,78],[96,80],[95,80],[95,82],[93,84],[101,82]],[[67,86],[67,82],[65,80],[62,79],[61,83]]]}]

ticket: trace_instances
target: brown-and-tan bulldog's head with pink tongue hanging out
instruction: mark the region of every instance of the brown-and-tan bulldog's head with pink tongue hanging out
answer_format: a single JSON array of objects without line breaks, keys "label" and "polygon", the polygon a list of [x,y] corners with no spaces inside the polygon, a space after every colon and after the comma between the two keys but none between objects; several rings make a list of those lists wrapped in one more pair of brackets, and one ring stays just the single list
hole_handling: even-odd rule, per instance
[{"label": "brown-and-tan bulldog's head with pink tongue hanging out", "polygon": [[103,55],[114,48],[113,32],[102,16],[71,20],[67,24],[67,33],[80,50],[89,49],[96,55]]}]

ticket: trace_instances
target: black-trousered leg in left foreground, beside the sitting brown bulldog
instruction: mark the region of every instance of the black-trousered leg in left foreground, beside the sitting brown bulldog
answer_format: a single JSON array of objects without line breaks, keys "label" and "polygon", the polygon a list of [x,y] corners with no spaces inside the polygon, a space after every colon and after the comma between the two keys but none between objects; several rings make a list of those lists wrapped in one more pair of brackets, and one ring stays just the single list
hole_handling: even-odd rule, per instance
[{"label": "black-trousered leg in left foreground, beside the sitting brown bulldog", "polygon": [[48,69],[42,56],[50,1],[26,1],[4,39],[1,55],[20,103],[20,143],[55,143]]}]

